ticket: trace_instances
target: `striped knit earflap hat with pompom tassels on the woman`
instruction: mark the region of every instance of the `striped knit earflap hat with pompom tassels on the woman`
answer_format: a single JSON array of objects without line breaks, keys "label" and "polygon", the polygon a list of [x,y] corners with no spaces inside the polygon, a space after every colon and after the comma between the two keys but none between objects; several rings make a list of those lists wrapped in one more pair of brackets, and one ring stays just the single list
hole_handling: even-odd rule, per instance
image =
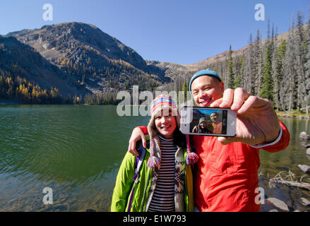
[{"label": "striped knit earflap hat with pompom tassels on the woman", "polygon": [[[160,140],[157,136],[157,129],[155,126],[155,116],[157,114],[161,114],[161,111],[163,110],[164,115],[168,115],[169,110],[172,112],[172,116],[176,118],[177,122],[177,129],[179,129],[179,112],[177,110],[177,105],[172,100],[172,97],[169,97],[167,95],[159,95],[157,96],[153,102],[150,105],[150,122],[148,123],[148,134],[150,135],[150,158],[148,160],[148,167],[155,168],[160,167]],[[196,163],[198,160],[198,155],[196,153],[191,152],[191,147],[189,145],[189,135],[186,135],[186,145],[187,145],[187,153],[186,153],[186,164],[193,164]],[[155,156],[154,150],[157,150],[157,157]]]}]

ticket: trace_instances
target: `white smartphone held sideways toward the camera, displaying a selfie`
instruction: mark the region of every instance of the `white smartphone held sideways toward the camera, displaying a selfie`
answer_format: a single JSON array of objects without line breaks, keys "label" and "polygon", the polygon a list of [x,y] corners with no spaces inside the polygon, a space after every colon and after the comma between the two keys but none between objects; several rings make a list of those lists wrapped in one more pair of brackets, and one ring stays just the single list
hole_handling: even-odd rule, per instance
[{"label": "white smartphone held sideways toward the camera, displaying a selfie", "polygon": [[229,108],[181,108],[180,131],[201,136],[236,136],[237,112]]}]

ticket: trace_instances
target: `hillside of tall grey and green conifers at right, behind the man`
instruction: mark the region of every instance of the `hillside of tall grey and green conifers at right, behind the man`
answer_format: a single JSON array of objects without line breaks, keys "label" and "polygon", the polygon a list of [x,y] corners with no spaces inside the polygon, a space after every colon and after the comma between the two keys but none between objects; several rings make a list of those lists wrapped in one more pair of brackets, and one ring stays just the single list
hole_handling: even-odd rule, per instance
[{"label": "hillside of tall grey and green conifers at right, behind the man", "polygon": [[225,88],[242,87],[251,95],[268,98],[275,109],[292,111],[310,105],[310,28],[297,13],[288,32],[277,34],[277,27],[268,21],[267,38],[260,30],[249,36],[249,45],[212,59],[187,65],[191,73],[175,77],[160,90],[186,90],[193,73],[201,69],[217,71]]}]

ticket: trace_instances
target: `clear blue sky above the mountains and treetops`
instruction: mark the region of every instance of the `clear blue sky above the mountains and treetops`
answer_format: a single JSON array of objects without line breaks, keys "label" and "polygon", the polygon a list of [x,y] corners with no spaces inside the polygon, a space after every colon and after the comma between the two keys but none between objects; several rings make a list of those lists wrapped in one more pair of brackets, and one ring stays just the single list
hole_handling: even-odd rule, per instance
[{"label": "clear blue sky above the mountains and treetops", "polygon": [[[52,21],[44,20],[44,4],[52,5]],[[268,18],[278,33],[286,32],[297,11],[308,20],[309,6],[310,0],[1,0],[0,35],[64,22],[91,23],[143,59],[193,64],[229,45],[232,50],[246,46],[258,29],[265,39]]]}]

